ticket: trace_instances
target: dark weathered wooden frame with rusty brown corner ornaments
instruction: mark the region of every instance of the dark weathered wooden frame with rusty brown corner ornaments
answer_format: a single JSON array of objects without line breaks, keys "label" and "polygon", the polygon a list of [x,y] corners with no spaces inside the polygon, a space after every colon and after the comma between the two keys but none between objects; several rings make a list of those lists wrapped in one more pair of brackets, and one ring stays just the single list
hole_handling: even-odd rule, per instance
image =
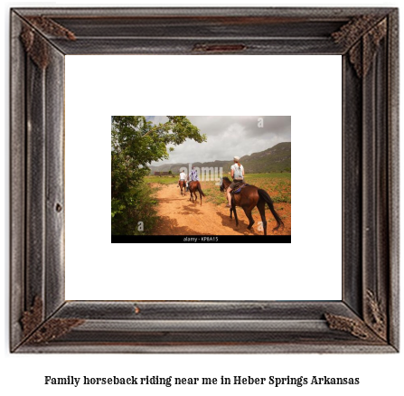
[{"label": "dark weathered wooden frame with rusty brown corner ornaments", "polygon": [[[393,8],[12,10],[11,351],[397,352],[398,26]],[[92,53],[342,55],[342,301],[65,301],[64,55]]]}]

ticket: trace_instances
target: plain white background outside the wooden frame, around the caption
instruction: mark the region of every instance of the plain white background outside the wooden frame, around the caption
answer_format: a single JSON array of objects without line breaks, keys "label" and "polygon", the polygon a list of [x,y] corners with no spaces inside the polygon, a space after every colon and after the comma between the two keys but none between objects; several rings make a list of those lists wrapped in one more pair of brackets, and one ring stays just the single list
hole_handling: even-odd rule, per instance
[{"label": "plain white background outside the wooden frame, around the caption", "polygon": [[[123,3],[123,2],[122,2]],[[135,1],[130,4],[136,4]],[[167,3],[169,4],[169,3]],[[189,4],[189,3],[183,3]],[[224,2],[222,3],[224,4]],[[233,2],[228,3],[234,5]],[[4,40],[2,40],[3,51],[2,66],[5,81],[8,81],[7,57],[8,57],[8,8],[10,6],[23,6],[23,5],[57,5],[55,3],[8,3],[5,5],[3,20],[4,24]],[[63,5],[63,4],[58,4]],[[90,5],[88,3],[88,5]],[[99,5],[99,3],[97,3]],[[117,6],[118,4],[115,4]],[[169,4],[170,5],[170,4]],[[261,4],[261,5],[276,5],[276,4]],[[304,2],[295,2],[290,5],[305,5]],[[313,5],[313,4],[311,4]],[[323,2],[317,5],[389,5],[399,6],[399,2],[371,2],[371,1],[356,1],[355,4],[345,1],[338,4]],[[285,6],[285,5],[283,5]],[[5,98],[5,106],[0,108],[0,119],[5,119],[5,131],[8,130],[8,91],[7,83],[3,86]],[[5,134],[5,162],[2,163],[4,169],[2,177],[5,177],[5,182],[8,175],[8,137]],[[5,185],[5,184],[4,184]],[[4,211],[8,213],[8,193],[7,188],[5,193],[1,195],[2,204],[4,203]],[[111,388],[111,387],[98,387],[98,388],[72,388],[71,386],[44,386],[43,376],[53,375],[57,377],[75,375],[82,377],[87,376],[144,376],[155,375],[160,376],[217,376],[221,375],[253,375],[253,376],[312,376],[312,375],[328,375],[328,376],[352,376],[359,377],[361,384],[358,386],[338,387],[338,386],[305,386],[303,388],[296,388],[295,386],[288,386],[274,389],[272,387],[213,387],[208,391],[211,394],[277,394],[277,395],[347,395],[357,394],[394,394],[399,395],[404,391],[402,384],[402,368],[404,367],[404,359],[402,354],[305,354],[305,355],[69,355],[69,354],[47,354],[47,355],[18,355],[8,353],[8,306],[9,306],[9,288],[8,288],[8,217],[5,215],[5,227],[2,232],[5,233],[5,238],[1,238],[2,251],[5,251],[5,269],[3,274],[1,288],[4,303],[2,309],[2,345],[3,352],[1,357],[1,382],[0,389],[3,394],[41,394],[41,395],[60,395],[71,394],[89,394],[89,392],[97,392],[98,395],[110,395],[112,392],[117,394],[133,395],[137,394],[166,394],[170,392],[175,395],[194,395],[206,394],[206,388],[197,386],[191,389],[190,387],[184,388],[142,388],[132,389],[125,388]],[[402,328],[402,326],[401,326]],[[402,339],[402,331],[401,331]]]}]

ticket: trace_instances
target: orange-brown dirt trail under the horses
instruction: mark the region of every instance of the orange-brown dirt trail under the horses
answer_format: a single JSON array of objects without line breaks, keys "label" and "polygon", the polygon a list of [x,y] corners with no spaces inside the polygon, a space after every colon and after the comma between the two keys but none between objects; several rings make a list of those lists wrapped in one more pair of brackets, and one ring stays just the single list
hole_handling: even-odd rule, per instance
[{"label": "orange-brown dirt trail under the horses", "polygon": [[[190,193],[182,196],[176,184],[159,185],[157,192],[158,215],[160,222],[157,224],[155,235],[263,235],[258,231],[258,222],[261,221],[258,210],[253,212],[255,224],[251,231],[247,230],[249,220],[241,208],[237,208],[239,215],[239,228],[236,222],[230,220],[230,210],[224,204],[209,203],[206,198],[201,200],[198,193],[198,203],[189,201]],[[203,190],[203,184],[202,184]],[[290,205],[289,205],[290,207]],[[282,217],[282,213],[277,211]],[[290,210],[289,210],[290,212]],[[285,222],[284,231],[274,232],[276,221],[266,208],[268,222],[268,235],[290,235],[290,220]]]}]

